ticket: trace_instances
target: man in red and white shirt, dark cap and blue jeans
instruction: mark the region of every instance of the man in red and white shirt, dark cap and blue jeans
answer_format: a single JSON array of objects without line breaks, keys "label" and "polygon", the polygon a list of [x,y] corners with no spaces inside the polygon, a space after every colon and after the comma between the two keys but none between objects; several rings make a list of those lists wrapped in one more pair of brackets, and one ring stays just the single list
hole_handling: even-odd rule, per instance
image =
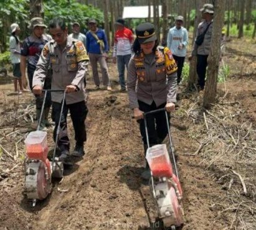
[{"label": "man in red and white shirt, dark cap and blue jeans", "polygon": [[119,82],[121,91],[126,91],[125,85],[125,67],[128,68],[128,63],[131,58],[131,47],[133,45],[133,33],[125,27],[125,20],[117,19],[115,22],[115,45],[113,51],[113,62],[116,63],[119,73]]}]

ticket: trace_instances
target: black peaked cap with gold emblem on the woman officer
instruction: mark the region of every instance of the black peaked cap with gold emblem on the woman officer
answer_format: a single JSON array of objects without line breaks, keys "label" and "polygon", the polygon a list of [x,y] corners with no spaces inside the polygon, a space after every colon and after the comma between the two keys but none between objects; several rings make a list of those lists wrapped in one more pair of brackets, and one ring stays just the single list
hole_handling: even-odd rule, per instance
[{"label": "black peaked cap with gold emblem on the woman officer", "polygon": [[156,34],[154,32],[154,25],[145,22],[140,25],[138,25],[135,29],[136,31],[136,36],[140,44],[145,44],[147,42],[153,42],[156,40]]}]

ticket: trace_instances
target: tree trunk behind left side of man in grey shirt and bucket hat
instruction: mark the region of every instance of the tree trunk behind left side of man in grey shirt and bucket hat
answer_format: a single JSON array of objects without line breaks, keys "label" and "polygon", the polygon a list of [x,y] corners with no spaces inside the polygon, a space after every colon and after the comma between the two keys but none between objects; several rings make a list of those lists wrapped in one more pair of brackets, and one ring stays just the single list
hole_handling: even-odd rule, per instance
[{"label": "tree trunk behind left side of man in grey shirt and bucket hat", "polygon": [[[198,6],[198,7],[196,7],[196,18],[194,21],[192,47],[194,45],[194,40],[196,38],[197,27],[198,27],[198,24],[201,22],[201,17],[202,17],[201,11],[199,11],[199,9],[201,9],[201,7],[204,5],[204,0],[194,0],[194,4],[195,6]],[[189,63],[189,80],[187,83],[187,88],[189,90],[194,88],[194,85],[196,85],[197,83],[196,63],[197,63],[197,58],[193,56],[192,60]]]}]

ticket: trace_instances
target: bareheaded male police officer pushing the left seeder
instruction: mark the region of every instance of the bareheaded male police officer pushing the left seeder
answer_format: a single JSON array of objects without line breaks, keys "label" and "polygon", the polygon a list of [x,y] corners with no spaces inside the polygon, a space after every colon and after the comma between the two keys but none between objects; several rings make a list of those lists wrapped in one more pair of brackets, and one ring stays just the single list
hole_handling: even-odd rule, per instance
[{"label": "bareheaded male police officer pushing the left seeder", "polygon": [[[67,113],[70,116],[75,130],[75,150],[72,155],[82,157],[85,154],[83,142],[87,139],[85,131],[85,118],[87,106],[85,104],[84,75],[87,70],[88,56],[82,42],[67,36],[67,27],[62,19],[55,18],[50,21],[50,34],[54,40],[48,42],[40,55],[33,78],[33,93],[42,93],[42,84],[49,65],[52,66],[52,90],[65,90],[64,111],[60,121],[59,149],[60,160],[67,160],[70,142],[67,135]],[[59,123],[60,108],[63,93],[52,92],[52,110],[54,114],[54,138]]]}]

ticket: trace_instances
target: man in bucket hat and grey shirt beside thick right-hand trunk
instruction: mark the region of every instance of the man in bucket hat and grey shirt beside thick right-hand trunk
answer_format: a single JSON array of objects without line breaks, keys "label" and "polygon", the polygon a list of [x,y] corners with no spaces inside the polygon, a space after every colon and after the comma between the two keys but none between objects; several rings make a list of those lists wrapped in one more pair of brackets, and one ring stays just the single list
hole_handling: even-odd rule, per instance
[{"label": "man in bucket hat and grey shirt beside thick right-hand trunk", "polygon": [[202,12],[202,19],[204,19],[204,21],[198,25],[196,39],[189,60],[192,59],[192,56],[197,56],[196,70],[199,90],[204,90],[204,85],[206,83],[207,58],[210,52],[212,39],[214,6],[212,4],[204,4],[200,11]]}]

